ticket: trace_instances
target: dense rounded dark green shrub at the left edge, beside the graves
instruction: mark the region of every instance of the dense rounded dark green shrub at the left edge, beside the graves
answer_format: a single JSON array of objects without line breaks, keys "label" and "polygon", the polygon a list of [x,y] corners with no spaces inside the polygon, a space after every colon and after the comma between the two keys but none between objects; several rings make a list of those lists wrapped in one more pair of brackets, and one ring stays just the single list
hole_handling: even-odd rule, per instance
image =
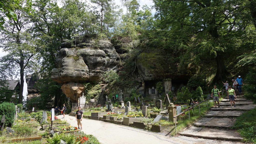
[{"label": "dense rounded dark green shrub at the left edge, beside the graves", "polygon": [[11,126],[14,121],[15,116],[15,105],[14,103],[6,103],[3,102],[0,104],[0,119],[2,119],[2,116],[5,115],[5,125]]}]

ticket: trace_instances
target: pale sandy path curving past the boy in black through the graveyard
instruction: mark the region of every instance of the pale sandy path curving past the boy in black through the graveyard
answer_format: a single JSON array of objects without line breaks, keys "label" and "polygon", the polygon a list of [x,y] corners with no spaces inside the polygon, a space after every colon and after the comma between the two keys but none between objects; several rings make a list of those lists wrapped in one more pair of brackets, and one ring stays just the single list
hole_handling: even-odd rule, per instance
[{"label": "pale sandy path curving past the boy in black through the graveyard", "polygon": [[[57,116],[62,118],[63,116]],[[76,118],[66,115],[62,120],[67,120],[71,126],[77,127]],[[92,134],[101,144],[235,144],[240,142],[206,140],[186,136],[170,137],[143,129],[132,128],[123,125],[106,123],[99,120],[83,119],[83,132]]]}]

